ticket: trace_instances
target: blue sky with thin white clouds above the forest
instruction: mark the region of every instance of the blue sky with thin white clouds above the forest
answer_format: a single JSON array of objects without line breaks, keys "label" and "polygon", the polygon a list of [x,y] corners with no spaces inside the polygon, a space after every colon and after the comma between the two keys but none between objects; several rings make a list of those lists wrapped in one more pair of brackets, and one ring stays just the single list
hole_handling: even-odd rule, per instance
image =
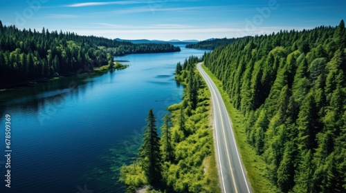
[{"label": "blue sky with thin white clouds above the forest", "polygon": [[111,39],[209,39],[337,26],[345,0],[5,0],[4,25]]}]

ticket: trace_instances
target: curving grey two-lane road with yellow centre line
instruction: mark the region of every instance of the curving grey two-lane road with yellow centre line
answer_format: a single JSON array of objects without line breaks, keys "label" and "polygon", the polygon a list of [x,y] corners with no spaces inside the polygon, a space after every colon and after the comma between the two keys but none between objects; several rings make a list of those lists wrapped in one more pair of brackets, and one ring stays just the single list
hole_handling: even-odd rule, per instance
[{"label": "curving grey two-lane road with yellow centre line", "polygon": [[217,90],[217,86],[203,70],[201,64],[202,63],[197,64],[197,69],[206,81],[212,94],[217,158],[219,159],[219,170],[221,170],[219,172],[221,175],[221,190],[224,193],[251,192],[248,182],[246,181],[244,168],[239,156],[226,106],[219,90]]}]

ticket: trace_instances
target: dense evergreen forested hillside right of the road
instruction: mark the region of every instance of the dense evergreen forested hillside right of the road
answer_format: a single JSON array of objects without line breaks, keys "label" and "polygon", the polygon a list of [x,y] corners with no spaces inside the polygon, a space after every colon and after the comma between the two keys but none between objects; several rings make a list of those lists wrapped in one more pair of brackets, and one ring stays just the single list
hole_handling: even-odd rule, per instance
[{"label": "dense evergreen forested hillside right of the road", "polygon": [[245,37],[205,55],[282,192],[346,192],[345,48],[341,21]]}]

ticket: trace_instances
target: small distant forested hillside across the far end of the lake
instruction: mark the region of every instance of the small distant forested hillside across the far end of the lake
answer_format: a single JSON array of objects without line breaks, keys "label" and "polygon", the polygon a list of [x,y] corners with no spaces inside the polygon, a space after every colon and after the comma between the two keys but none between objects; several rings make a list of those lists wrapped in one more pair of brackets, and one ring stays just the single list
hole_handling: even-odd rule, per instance
[{"label": "small distant forested hillside across the far end of the lake", "polygon": [[211,39],[206,41],[200,41],[199,43],[190,43],[186,45],[186,48],[194,48],[194,49],[205,49],[205,50],[214,50],[215,48],[221,45],[228,45],[233,43],[237,39],[231,38],[227,39],[226,37],[223,39]]}]

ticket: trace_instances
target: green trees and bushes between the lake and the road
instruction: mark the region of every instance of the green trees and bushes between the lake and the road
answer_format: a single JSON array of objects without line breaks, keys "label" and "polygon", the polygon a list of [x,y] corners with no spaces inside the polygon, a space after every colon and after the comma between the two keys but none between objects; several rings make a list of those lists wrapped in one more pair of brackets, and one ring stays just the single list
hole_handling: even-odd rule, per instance
[{"label": "green trees and bushes between the lake and the road", "polygon": [[196,67],[197,57],[176,65],[176,79],[185,85],[183,101],[167,108],[161,135],[149,110],[138,159],[120,170],[127,192],[221,192],[216,177],[210,129],[210,92]]}]

